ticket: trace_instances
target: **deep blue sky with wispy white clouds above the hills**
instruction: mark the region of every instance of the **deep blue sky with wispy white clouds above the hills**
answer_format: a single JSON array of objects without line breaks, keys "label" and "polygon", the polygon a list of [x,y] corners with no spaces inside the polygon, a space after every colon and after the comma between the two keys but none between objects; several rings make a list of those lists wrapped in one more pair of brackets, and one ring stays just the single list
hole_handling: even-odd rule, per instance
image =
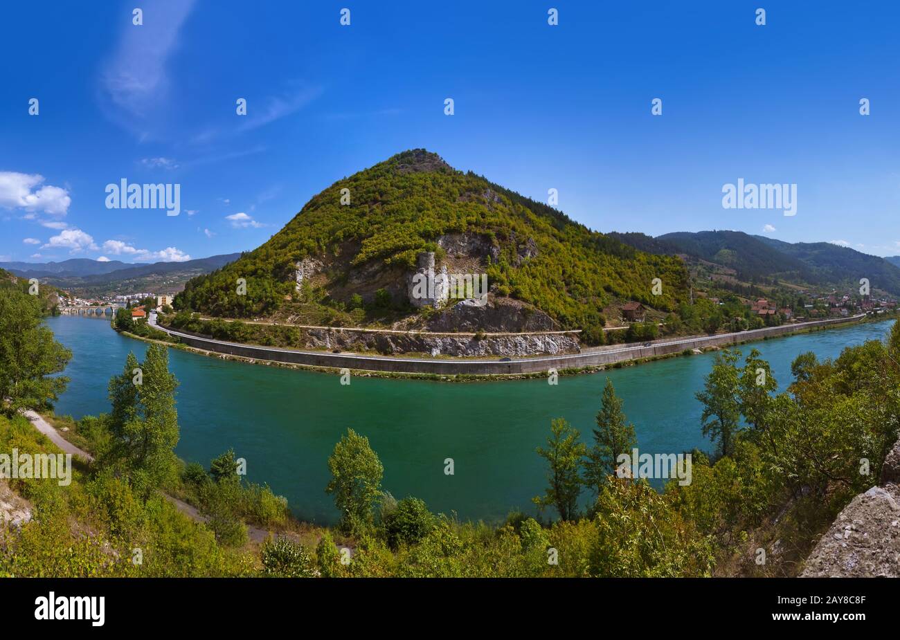
[{"label": "deep blue sky with wispy white clouds above the hills", "polygon": [[[770,228],[900,253],[893,1],[17,4],[0,40],[3,261],[252,249],[413,147],[536,200],[557,189],[600,231]],[[122,178],[180,184],[182,212],[107,209]],[[797,215],[723,209],[738,178],[797,184]]]}]

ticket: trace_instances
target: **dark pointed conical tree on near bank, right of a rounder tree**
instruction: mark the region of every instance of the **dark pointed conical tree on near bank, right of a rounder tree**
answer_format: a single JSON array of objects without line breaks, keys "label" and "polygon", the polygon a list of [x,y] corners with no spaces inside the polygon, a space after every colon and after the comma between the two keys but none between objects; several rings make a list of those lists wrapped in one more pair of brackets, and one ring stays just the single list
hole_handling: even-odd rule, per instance
[{"label": "dark pointed conical tree on near bank, right of a rounder tree", "polygon": [[637,446],[635,425],[626,422],[622,413],[622,399],[616,396],[612,380],[607,378],[603,387],[602,406],[597,413],[597,429],[594,429],[594,446],[588,450],[585,461],[585,484],[599,495],[608,476],[616,473],[617,458],[631,453]]}]

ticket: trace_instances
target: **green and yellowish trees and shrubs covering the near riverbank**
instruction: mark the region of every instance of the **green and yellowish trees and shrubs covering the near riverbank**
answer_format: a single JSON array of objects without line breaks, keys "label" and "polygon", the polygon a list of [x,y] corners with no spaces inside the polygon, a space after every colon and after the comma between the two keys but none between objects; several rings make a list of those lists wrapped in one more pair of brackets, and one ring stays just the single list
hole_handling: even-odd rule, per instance
[{"label": "green and yellowish trees and shrubs covering the near riverbank", "polygon": [[[58,382],[45,386],[47,377],[64,368],[67,353],[48,340],[40,308],[28,298],[0,290],[0,383],[9,400],[0,416],[0,450],[55,452],[19,410],[49,409],[65,380],[51,378]],[[537,449],[548,479],[536,497],[538,517],[512,513],[496,525],[432,513],[413,496],[394,499],[365,435],[348,430],[328,461],[332,479],[324,489],[341,513],[329,529],[293,520],[284,499],[244,481],[233,451],[208,468],[175,457],[177,381],[166,348],[152,345],[142,363],[130,356],[110,380],[110,413],[78,422],[51,417],[94,454],[94,462],[74,465],[71,484],[0,481],[31,514],[4,521],[0,573],[795,575],[834,515],[878,484],[900,427],[897,360],[895,324],[886,342],[847,348],[835,360],[800,355],[794,382],[775,395],[758,353],[742,360],[721,351],[698,393],[705,408],[698,428],[715,449],[692,452],[691,484],[670,482],[662,490],[617,477],[618,453],[637,442],[608,383],[589,442],[558,419]],[[193,503],[206,521],[177,511],[164,492]],[[248,524],[273,534],[248,539]],[[760,548],[765,564],[755,562]]]}]

